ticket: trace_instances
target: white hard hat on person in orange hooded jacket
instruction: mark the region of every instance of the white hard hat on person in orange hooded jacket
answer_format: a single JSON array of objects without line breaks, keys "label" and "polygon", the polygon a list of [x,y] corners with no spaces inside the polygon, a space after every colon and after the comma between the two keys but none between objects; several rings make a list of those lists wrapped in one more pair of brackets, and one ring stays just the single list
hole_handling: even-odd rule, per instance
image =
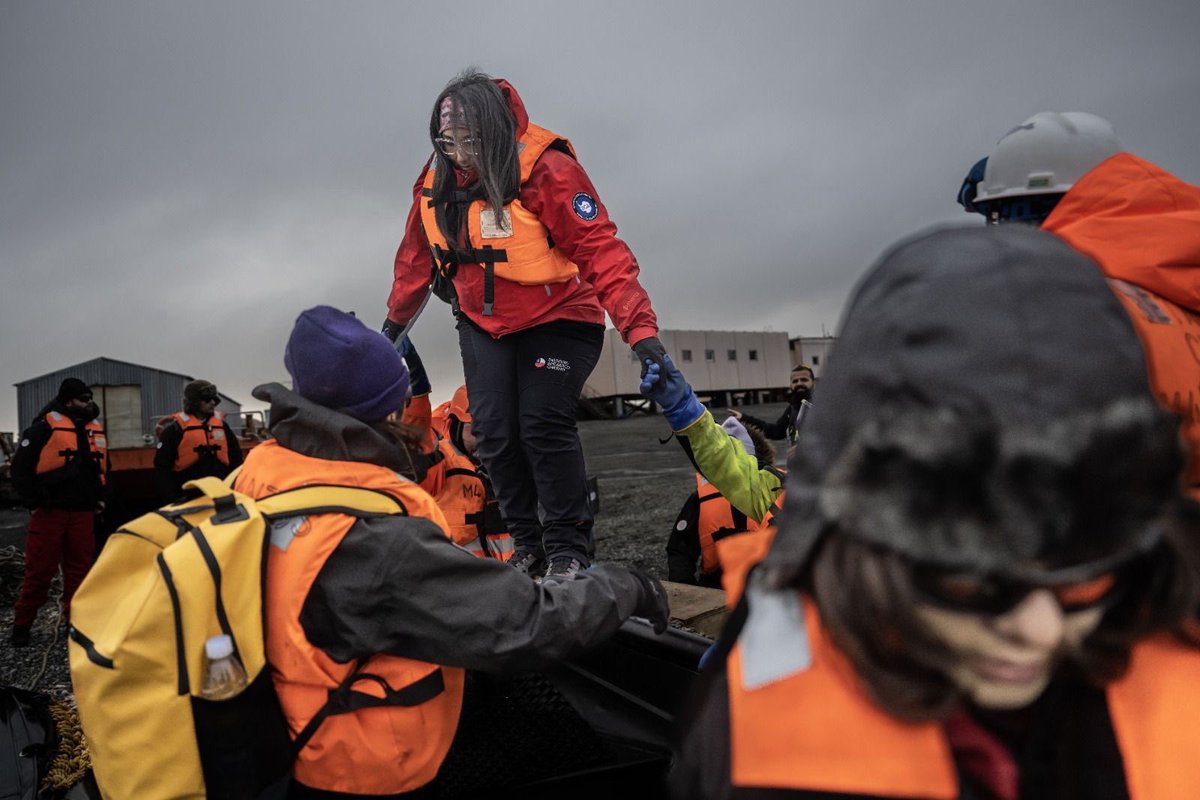
[{"label": "white hard hat on person in orange hooded jacket", "polygon": [[1084,112],[1042,112],[1006,133],[988,156],[974,203],[1062,194],[1123,148],[1108,120]]}]

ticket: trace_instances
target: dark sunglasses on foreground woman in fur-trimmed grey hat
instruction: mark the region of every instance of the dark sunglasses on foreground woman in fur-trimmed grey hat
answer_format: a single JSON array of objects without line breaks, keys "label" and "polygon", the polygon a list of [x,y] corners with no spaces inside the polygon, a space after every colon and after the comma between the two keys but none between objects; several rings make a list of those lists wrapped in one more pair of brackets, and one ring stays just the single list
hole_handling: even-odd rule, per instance
[{"label": "dark sunglasses on foreground woman in fur-trimmed grey hat", "polygon": [[937,606],[950,610],[1004,614],[1038,589],[1045,589],[1072,614],[1112,602],[1121,582],[1117,572],[1105,572],[1086,581],[1060,584],[1037,584],[991,575],[947,572],[917,569],[913,584]]}]

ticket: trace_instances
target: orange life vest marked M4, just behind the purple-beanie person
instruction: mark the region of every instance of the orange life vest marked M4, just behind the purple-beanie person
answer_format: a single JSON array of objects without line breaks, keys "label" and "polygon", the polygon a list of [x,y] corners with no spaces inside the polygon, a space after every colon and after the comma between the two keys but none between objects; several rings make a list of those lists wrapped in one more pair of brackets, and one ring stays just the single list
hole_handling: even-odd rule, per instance
[{"label": "orange life vest marked M4, just behind the purple-beanie person", "polygon": [[[437,427],[436,411],[433,420]],[[479,468],[444,434],[434,435],[442,459],[430,469],[421,486],[433,495],[442,513],[445,515],[446,524],[450,527],[450,539],[479,558],[508,561],[515,549],[512,536],[506,530],[480,530],[480,524],[488,519],[485,507],[490,500]]]}]

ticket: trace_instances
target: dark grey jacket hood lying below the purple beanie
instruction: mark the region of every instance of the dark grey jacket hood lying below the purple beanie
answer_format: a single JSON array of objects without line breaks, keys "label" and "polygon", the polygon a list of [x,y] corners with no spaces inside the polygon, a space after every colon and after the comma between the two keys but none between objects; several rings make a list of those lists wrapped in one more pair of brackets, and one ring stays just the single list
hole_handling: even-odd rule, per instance
[{"label": "dark grey jacket hood lying below the purple beanie", "polygon": [[271,404],[271,433],[288,450],[326,461],[378,464],[404,475],[413,470],[404,446],[379,426],[318,405],[282,384],[262,384],[251,393]]}]

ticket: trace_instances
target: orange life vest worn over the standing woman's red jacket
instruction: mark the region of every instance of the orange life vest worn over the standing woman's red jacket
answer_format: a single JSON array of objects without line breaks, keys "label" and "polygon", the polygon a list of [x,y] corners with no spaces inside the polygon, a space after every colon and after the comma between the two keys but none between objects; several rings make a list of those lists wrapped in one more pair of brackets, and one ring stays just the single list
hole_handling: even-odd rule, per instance
[{"label": "orange life vest worn over the standing woman's red jacket", "polygon": [[[517,158],[521,163],[521,184],[529,180],[533,167],[547,148],[565,146],[574,156],[570,142],[546,128],[533,125],[517,139]],[[421,193],[433,196],[433,163],[425,174]],[[464,247],[452,247],[438,228],[434,205],[431,199],[421,204],[421,225],[430,242],[433,265],[445,276],[452,275],[455,265],[479,264],[491,275],[505,281],[527,285],[562,283],[578,275],[578,267],[562,251],[553,246],[550,231],[536,215],[521,204],[520,198],[504,206],[504,218],[496,219],[491,204],[474,200],[467,211],[469,240]],[[486,294],[486,288],[485,288]],[[485,297],[484,313],[491,313],[491,300]]]}]

